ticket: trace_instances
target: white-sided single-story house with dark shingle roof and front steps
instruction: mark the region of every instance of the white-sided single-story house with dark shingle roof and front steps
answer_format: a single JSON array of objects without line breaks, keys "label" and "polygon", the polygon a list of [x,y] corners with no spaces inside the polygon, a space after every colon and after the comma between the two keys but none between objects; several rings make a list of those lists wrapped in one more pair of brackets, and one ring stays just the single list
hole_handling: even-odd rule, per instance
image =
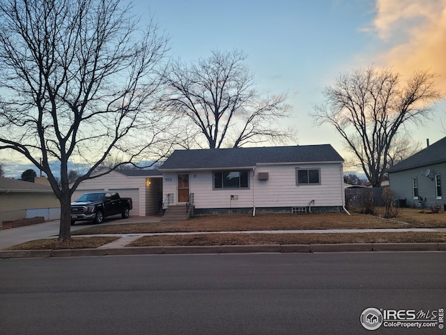
[{"label": "white-sided single-story house with dark shingle roof and front steps", "polygon": [[194,212],[340,211],[341,156],[330,144],[174,151],[160,167],[163,205]]}]

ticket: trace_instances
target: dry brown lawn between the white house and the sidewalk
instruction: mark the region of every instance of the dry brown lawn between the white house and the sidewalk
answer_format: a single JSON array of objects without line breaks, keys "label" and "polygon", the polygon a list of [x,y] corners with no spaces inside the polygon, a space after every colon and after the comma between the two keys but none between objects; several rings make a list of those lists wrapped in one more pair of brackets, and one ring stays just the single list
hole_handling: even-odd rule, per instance
[{"label": "dry brown lawn between the white house and the sidewalk", "polygon": [[368,229],[368,228],[446,228],[446,213],[421,214],[420,209],[403,209],[401,216],[386,219],[352,213],[312,214],[215,214],[200,215],[183,222],[128,223],[96,225],[76,234],[131,234],[149,232],[231,232],[247,230]]}]

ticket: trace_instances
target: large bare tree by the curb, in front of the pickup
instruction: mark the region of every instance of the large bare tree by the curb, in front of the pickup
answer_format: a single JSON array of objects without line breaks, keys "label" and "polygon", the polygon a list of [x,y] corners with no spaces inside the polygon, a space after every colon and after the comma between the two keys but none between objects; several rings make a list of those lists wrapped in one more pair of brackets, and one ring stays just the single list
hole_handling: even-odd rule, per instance
[{"label": "large bare tree by the curb, in front of the pickup", "polygon": [[[107,156],[157,154],[164,119],[148,104],[168,40],[120,0],[3,0],[0,20],[0,149],[47,174],[65,241],[71,195]],[[70,160],[91,167],[71,185]]]}]

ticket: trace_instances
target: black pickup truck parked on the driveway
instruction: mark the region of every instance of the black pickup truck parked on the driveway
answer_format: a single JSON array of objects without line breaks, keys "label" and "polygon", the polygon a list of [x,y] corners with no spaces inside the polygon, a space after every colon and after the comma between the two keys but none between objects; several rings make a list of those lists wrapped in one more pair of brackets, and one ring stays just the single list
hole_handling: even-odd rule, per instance
[{"label": "black pickup truck parked on the driveway", "polygon": [[71,203],[71,224],[83,220],[102,223],[106,216],[115,214],[128,218],[130,209],[132,198],[121,198],[116,192],[85,193]]}]

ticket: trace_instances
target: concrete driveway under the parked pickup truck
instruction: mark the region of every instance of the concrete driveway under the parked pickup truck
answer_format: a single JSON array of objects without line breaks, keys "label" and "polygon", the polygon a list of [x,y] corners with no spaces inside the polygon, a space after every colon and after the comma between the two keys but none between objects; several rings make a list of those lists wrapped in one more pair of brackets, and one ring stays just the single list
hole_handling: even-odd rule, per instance
[{"label": "concrete driveway under the parked pickup truck", "polygon": [[[105,218],[101,225],[121,225],[124,223],[157,223],[160,222],[161,216],[130,216],[130,218],[123,219],[120,216],[112,216]],[[48,221],[45,223],[38,223],[37,225],[27,225],[25,227],[0,230],[0,250],[15,246],[33,239],[46,239],[47,237],[57,237],[59,234],[58,221]],[[94,225],[91,221],[78,221],[71,226],[71,231],[87,228]]]}]

